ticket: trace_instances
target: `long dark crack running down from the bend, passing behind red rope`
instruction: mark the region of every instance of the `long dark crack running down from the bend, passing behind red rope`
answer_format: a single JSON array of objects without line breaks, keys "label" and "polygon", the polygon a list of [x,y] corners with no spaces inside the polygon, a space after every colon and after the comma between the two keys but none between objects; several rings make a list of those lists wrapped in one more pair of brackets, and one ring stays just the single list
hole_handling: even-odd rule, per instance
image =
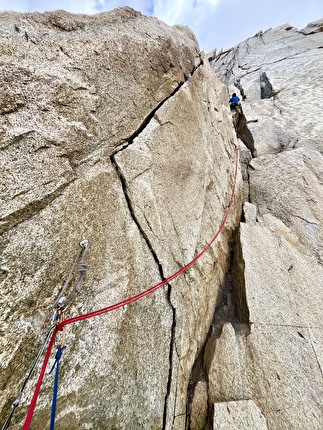
[{"label": "long dark crack running down from the bend, passing behind red rope", "polygon": [[[145,233],[144,229],[142,228],[142,226],[140,225],[140,222],[135,214],[129,193],[128,193],[128,188],[127,188],[127,182],[126,179],[120,169],[120,166],[118,165],[118,163],[116,162],[115,156],[111,155],[110,157],[111,159],[111,163],[114,166],[117,175],[120,179],[121,185],[122,185],[122,189],[123,189],[123,193],[128,205],[128,209],[130,212],[130,215],[133,219],[133,221],[135,222],[140,234],[142,235],[143,239],[145,240],[160,273],[160,277],[162,280],[165,280],[166,277],[164,276],[164,272],[163,272],[163,268],[162,265],[158,259],[157,253],[155,252],[147,234]],[[173,306],[172,302],[171,302],[171,292],[172,292],[172,287],[170,284],[167,284],[167,292],[166,292],[166,297],[167,297],[167,302],[168,305],[171,308],[172,311],[172,327],[171,327],[171,339],[170,339],[170,348],[169,348],[169,373],[168,373],[168,380],[167,380],[167,391],[166,391],[166,395],[165,395],[165,403],[164,403],[164,413],[163,413],[163,430],[166,428],[166,422],[167,422],[167,403],[168,403],[168,399],[169,399],[169,395],[170,395],[170,390],[171,390],[171,382],[172,382],[172,374],[173,374],[173,354],[174,354],[174,349],[175,349],[175,330],[176,330],[176,309]]]}]

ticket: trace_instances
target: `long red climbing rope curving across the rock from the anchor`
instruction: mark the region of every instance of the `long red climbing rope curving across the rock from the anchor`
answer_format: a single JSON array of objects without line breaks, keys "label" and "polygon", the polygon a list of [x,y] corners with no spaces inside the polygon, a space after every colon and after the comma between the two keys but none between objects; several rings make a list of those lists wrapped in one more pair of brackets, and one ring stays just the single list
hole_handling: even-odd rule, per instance
[{"label": "long red climbing rope curving across the rock from the anchor", "polygon": [[192,261],[190,261],[189,263],[187,263],[185,266],[183,266],[181,269],[179,269],[177,272],[173,273],[171,276],[169,276],[167,279],[164,279],[163,281],[159,282],[156,285],[153,285],[152,287],[148,288],[145,291],[142,291],[139,294],[136,294],[135,296],[129,297],[125,300],[122,300],[119,303],[115,303],[114,305],[110,305],[107,306],[106,308],[102,308],[102,309],[98,309],[96,311],[93,312],[89,312],[87,314],[83,314],[83,315],[78,315],[76,317],[72,317],[72,318],[68,318],[60,323],[57,324],[57,327],[55,328],[52,337],[50,339],[48,348],[47,348],[47,352],[46,352],[46,356],[43,362],[43,366],[36,384],[36,388],[34,391],[34,395],[32,398],[32,401],[30,403],[29,409],[28,409],[28,413],[25,419],[25,423],[24,426],[22,428],[22,430],[29,430],[30,428],[30,424],[31,424],[31,420],[34,414],[34,410],[36,407],[36,403],[37,403],[37,398],[39,395],[39,391],[43,382],[43,378],[44,378],[44,374],[45,374],[45,370],[46,370],[46,366],[49,360],[49,356],[55,341],[55,337],[57,334],[58,330],[63,330],[63,328],[66,325],[78,322],[78,321],[83,321],[89,318],[93,318],[96,317],[98,315],[103,315],[106,314],[108,312],[114,311],[115,309],[121,308],[123,306],[129,305],[130,303],[136,302],[137,300],[147,296],[148,294],[153,293],[154,291],[156,291],[158,288],[163,287],[164,285],[168,284],[170,281],[172,281],[173,279],[177,278],[179,275],[181,275],[183,272],[185,272],[189,267],[191,267],[194,263],[196,263],[196,261],[202,257],[202,255],[210,248],[210,246],[212,245],[212,243],[217,239],[217,237],[219,236],[219,234],[221,233],[221,231],[223,230],[226,221],[228,219],[228,216],[231,212],[232,209],[232,205],[233,205],[233,199],[234,199],[234,194],[235,194],[235,187],[236,187],[236,182],[237,182],[237,175],[238,175],[238,161],[239,161],[239,147],[236,148],[235,150],[235,171],[234,171],[234,179],[233,179],[233,185],[232,185],[232,190],[231,190],[231,197],[230,197],[230,202],[228,205],[228,209],[227,212],[220,224],[220,227],[218,229],[218,231],[215,233],[215,235],[213,236],[212,240],[203,248],[203,250],[196,256],[193,258]]}]

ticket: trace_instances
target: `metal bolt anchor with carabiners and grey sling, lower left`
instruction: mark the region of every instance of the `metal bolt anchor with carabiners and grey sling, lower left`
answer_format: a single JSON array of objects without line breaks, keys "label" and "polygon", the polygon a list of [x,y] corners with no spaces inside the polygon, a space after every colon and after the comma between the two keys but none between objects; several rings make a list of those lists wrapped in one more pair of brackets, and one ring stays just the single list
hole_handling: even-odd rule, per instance
[{"label": "metal bolt anchor with carabiners and grey sling, lower left", "polygon": [[[12,403],[12,410],[10,412],[10,415],[8,416],[6,422],[4,423],[3,427],[1,430],[7,430],[9,428],[9,425],[11,423],[12,417],[15,413],[15,410],[17,409],[17,407],[19,406],[19,403],[21,401],[22,398],[22,394],[26,388],[26,385],[29,381],[29,379],[31,378],[41,356],[43,355],[43,352],[46,348],[46,345],[48,343],[48,341],[51,339],[52,334],[56,331],[56,327],[58,326],[58,324],[61,324],[65,321],[66,319],[66,309],[68,307],[68,303],[70,303],[72,297],[74,296],[75,292],[78,292],[80,287],[81,287],[81,283],[82,283],[82,279],[84,277],[84,274],[86,272],[87,266],[86,266],[86,255],[88,253],[89,250],[89,244],[87,240],[82,240],[80,242],[80,249],[77,252],[75,259],[73,261],[73,264],[71,266],[69,275],[63,285],[63,288],[59,294],[59,296],[57,297],[55,304],[53,306],[53,312],[52,312],[52,318],[51,318],[51,327],[49,328],[48,332],[46,333],[46,336],[44,338],[44,341],[42,343],[42,345],[39,348],[37,357],[31,367],[31,369],[28,372],[28,375],[26,377],[26,379],[24,380],[21,389],[18,393],[18,396],[16,397],[15,401]],[[77,279],[74,283],[74,286],[72,287],[70,293],[69,293],[69,299],[67,299],[67,297],[64,295],[64,293],[67,290],[67,287],[69,285],[69,283],[71,282],[71,279],[73,277],[73,273],[75,271],[77,262],[79,261],[79,268],[78,268],[78,275],[77,275]],[[65,349],[65,338],[66,338],[66,329],[63,328],[62,330],[60,330],[61,332],[61,341],[59,342],[59,344],[57,344],[57,348],[58,350],[63,351],[63,349]],[[56,338],[56,336],[55,336]],[[56,361],[55,361],[56,363]],[[57,362],[57,366],[59,364],[59,360]],[[58,378],[58,371],[57,371],[57,378]],[[55,381],[56,381],[56,377],[55,377]],[[57,382],[58,384],[58,382]],[[57,385],[58,386],[58,385]],[[55,406],[56,408],[56,406]]]}]

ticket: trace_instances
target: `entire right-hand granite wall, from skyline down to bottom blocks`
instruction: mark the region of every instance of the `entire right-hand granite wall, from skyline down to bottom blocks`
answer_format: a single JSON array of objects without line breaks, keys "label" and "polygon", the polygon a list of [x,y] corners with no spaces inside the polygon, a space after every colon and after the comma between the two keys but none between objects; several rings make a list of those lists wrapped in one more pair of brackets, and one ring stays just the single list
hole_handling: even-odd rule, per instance
[{"label": "entire right-hand granite wall, from skyline down to bottom blocks", "polygon": [[[250,429],[323,425],[322,29],[320,20],[259,32],[213,62],[229,91],[243,89],[258,155],[244,171],[236,317],[214,330],[207,347],[215,429],[233,419],[225,405],[246,401],[267,425]],[[240,411],[251,420],[253,412],[237,406],[230,428],[243,428]]]}]

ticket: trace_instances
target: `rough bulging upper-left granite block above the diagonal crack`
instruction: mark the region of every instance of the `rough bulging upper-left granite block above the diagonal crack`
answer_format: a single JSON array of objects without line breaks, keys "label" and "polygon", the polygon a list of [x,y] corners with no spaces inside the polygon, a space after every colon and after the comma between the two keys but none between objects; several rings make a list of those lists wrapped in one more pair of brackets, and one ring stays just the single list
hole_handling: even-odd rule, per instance
[{"label": "rough bulging upper-left granite block above the diagonal crack", "polygon": [[151,22],[130,9],[1,15],[1,231],[61,194],[89,154],[128,141],[194,70],[193,35]]}]

